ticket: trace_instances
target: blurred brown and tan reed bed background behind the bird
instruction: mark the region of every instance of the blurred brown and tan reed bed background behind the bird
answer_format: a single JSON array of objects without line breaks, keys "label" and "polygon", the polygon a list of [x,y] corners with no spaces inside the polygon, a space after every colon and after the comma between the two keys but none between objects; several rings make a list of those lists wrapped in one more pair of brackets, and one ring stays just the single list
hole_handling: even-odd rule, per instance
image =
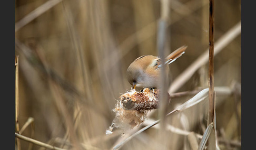
[{"label": "blurred brown and tan reed bed background behind the bird", "polygon": [[[170,1],[167,51],[187,45],[170,65],[172,82],[209,46],[209,2]],[[157,56],[158,0],[16,0],[16,49],[19,56],[19,126],[34,119],[22,135],[57,147],[110,149],[123,137],[105,135],[115,117],[130,63],[142,55]],[[241,1],[215,1],[215,41],[241,20]],[[231,94],[216,98],[216,131],[221,149],[241,149],[241,34],[214,57],[215,87]],[[208,88],[208,63],[175,92]],[[189,100],[171,100],[168,109]],[[168,123],[203,134],[208,103],[168,117]],[[156,112],[155,112],[156,113]],[[157,120],[156,114],[150,119]],[[143,125],[142,125],[143,126]],[[157,128],[150,128],[121,149],[156,149]],[[166,132],[166,149],[190,149],[188,138]],[[128,136],[128,135],[127,135]],[[221,141],[222,140],[222,141]],[[44,149],[21,142],[21,149]],[[200,140],[198,140],[200,142]],[[76,145],[76,146],[74,146]],[[16,147],[17,148],[17,147]]]}]

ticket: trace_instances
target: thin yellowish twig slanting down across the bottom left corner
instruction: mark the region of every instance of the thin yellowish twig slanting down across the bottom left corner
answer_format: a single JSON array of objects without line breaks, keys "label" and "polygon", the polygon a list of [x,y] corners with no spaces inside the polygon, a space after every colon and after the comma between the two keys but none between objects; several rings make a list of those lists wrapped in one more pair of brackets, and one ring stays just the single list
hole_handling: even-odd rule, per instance
[{"label": "thin yellowish twig slanting down across the bottom left corner", "polygon": [[39,146],[43,146],[45,148],[56,149],[56,150],[64,150],[63,148],[55,147],[55,146],[52,146],[52,145],[49,145],[49,144],[46,144],[46,143],[34,140],[33,138],[29,138],[29,137],[23,136],[23,135],[18,134],[18,133],[15,133],[15,136],[17,138],[19,138],[19,139],[22,139],[24,141],[27,141],[27,142],[30,142],[30,143],[33,143],[33,144],[36,144],[36,145],[39,145]]}]

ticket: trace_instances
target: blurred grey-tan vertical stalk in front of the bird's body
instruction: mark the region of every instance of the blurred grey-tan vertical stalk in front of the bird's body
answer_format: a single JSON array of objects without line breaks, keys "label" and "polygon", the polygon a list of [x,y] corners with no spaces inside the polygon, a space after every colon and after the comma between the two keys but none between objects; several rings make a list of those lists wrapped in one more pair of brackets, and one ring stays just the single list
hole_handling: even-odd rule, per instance
[{"label": "blurred grey-tan vertical stalk in front of the bird's body", "polygon": [[[160,106],[159,106],[159,119],[160,119],[160,132],[158,134],[157,140],[161,145],[166,145],[167,138],[166,134],[164,134],[166,130],[166,113],[168,113],[168,97],[166,95],[168,89],[168,78],[166,76],[166,70],[168,68],[168,64],[164,63],[164,58],[166,58],[166,54],[168,53],[168,48],[170,47],[170,42],[166,39],[169,38],[170,31],[168,30],[168,22],[170,16],[170,2],[169,0],[162,0],[160,1],[160,19],[158,21],[158,28],[157,28],[157,51],[158,56],[161,58],[160,63],[163,64],[160,67]],[[165,65],[164,65],[165,64]]]}]

